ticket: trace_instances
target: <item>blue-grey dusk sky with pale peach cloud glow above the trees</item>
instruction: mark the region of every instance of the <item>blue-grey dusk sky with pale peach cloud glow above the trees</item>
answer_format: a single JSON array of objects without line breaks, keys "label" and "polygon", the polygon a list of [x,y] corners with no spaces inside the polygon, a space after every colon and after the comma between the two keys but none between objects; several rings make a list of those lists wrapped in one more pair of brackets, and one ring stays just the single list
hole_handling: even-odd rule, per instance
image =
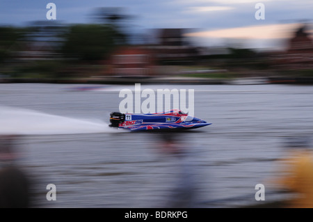
[{"label": "blue-grey dusk sky with pale peach cloud glow above the trees", "polygon": [[[122,7],[134,16],[128,21],[134,30],[193,28],[188,36],[208,46],[277,47],[298,27],[296,23],[313,19],[312,0],[1,0],[0,25],[48,21],[50,2],[56,4],[56,21],[65,24],[93,22],[95,8]],[[255,18],[257,3],[264,4],[264,19]]]}]

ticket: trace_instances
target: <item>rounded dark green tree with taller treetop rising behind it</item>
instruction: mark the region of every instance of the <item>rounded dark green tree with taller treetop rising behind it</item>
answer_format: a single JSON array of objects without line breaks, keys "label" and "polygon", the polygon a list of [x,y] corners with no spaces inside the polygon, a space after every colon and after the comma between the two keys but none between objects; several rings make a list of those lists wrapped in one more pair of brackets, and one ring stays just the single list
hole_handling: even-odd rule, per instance
[{"label": "rounded dark green tree with taller treetop rising behind it", "polygon": [[110,55],[117,45],[127,44],[123,22],[129,15],[122,8],[97,8],[93,13],[95,24],[75,24],[63,33],[61,53],[79,61],[99,61]]}]

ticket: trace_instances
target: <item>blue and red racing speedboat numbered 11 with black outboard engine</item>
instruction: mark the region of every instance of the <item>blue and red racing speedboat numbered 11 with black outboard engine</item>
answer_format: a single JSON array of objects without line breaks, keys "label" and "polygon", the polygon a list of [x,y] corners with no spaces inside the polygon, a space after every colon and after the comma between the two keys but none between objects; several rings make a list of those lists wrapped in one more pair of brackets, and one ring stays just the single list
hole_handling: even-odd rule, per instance
[{"label": "blue and red racing speedboat numbered 11 with black outboard engine", "polygon": [[211,125],[204,120],[188,116],[179,109],[172,109],[161,113],[119,113],[110,114],[110,127],[129,129],[131,131],[155,130],[155,129],[195,129]]}]

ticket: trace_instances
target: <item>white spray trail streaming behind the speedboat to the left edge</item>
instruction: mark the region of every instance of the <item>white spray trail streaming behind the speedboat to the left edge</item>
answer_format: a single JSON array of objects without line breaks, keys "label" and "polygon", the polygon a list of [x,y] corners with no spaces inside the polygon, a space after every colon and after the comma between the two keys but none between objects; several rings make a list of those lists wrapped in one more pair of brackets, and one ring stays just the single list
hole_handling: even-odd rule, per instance
[{"label": "white spray trail streaming behind the speedboat to the left edge", "polygon": [[0,134],[94,134],[115,133],[102,120],[84,120],[56,116],[30,109],[0,106]]}]

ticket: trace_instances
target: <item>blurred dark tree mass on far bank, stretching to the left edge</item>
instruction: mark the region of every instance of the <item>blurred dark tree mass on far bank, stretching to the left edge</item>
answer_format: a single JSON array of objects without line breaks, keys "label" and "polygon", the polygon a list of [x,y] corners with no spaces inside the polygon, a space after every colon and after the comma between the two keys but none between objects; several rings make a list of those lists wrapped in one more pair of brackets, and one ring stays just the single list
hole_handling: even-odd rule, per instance
[{"label": "blurred dark tree mass on far bank, stretching to the left edge", "polygon": [[31,22],[0,27],[0,74],[9,77],[68,78],[97,66],[119,45],[127,45],[122,8],[97,8],[91,24]]}]

